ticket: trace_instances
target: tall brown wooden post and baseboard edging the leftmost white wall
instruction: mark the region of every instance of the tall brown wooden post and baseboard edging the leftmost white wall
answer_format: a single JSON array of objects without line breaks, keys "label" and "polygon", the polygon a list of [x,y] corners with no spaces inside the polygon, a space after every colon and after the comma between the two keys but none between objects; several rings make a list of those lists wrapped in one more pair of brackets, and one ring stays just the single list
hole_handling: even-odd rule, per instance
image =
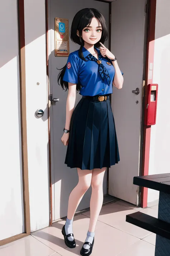
[{"label": "tall brown wooden post and baseboard edging the leftmost white wall", "polygon": [[19,42],[19,79],[20,79],[20,120],[21,120],[21,153],[23,176],[23,205],[25,232],[0,241],[0,246],[30,235],[30,208],[28,187],[28,151],[27,151],[27,117],[26,117],[26,84],[25,84],[25,29],[24,1],[17,1],[18,42]]}]

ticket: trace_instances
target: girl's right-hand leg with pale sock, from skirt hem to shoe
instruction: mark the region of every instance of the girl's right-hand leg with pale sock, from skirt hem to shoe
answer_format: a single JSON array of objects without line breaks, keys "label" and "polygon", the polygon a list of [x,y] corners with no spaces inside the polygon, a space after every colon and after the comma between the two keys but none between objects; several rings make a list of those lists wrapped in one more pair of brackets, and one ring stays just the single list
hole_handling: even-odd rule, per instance
[{"label": "girl's right-hand leg with pale sock, from skirt hem to shoe", "polygon": [[[95,226],[103,204],[103,178],[105,170],[106,167],[103,167],[101,169],[93,169],[93,174],[91,178],[92,193],[90,199],[90,224],[85,242],[93,242]],[[85,249],[90,248],[88,244],[84,244],[83,247]]]}]

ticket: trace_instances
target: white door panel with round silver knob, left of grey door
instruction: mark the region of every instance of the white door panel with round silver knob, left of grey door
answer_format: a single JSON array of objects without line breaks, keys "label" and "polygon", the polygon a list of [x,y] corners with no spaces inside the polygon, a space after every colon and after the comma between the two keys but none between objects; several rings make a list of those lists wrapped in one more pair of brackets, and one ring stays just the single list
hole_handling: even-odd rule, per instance
[{"label": "white door panel with round silver knob, left of grey door", "polygon": [[[25,0],[24,9],[28,178],[33,232],[49,225],[45,1]],[[42,118],[35,116],[38,108],[44,111]]]}]

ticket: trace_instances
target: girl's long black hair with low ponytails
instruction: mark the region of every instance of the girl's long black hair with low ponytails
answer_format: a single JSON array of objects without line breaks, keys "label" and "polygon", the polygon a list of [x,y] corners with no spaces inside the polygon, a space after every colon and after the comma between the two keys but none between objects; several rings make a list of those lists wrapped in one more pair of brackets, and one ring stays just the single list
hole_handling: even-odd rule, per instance
[{"label": "girl's long black hair with low ponytails", "polygon": [[[79,12],[76,13],[76,15],[73,18],[72,24],[71,24],[71,30],[70,30],[70,38],[72,42],[75,42],[76,44],[80,45],[80,49],[79,49],[79,57],[85,61],[87,61],[82,53],[82,48],[84,46],[84,40],[82,39],[82,30],[85,27],[88,27],[91,23],[91,20],[93,18],[98,19],[98,22],[100,22],[101,26],[102,26],[102,32],[101,32],[101,39],[100,42],[102,44],[104,44],[104,42],[108,39],[108,28],[107,28],[107,23],[105,21],[105,18],[103,17],[103,15],[96,9],[94,8],[84,8],[82,10],[80,10]],[[79,36],[77,36],[77,30],[79,31]],[[100,43],[97,42],[94,45],[96,48],[99,48]],[[69,84],[66,81],[63,81],[63,76],[66,70],[67,64],[59,69],[61,70],[60,73],[58,74],[58,84],[60,82],[61,87],[64,89],[69,89]],[[58,69],[58,68],[57,68]],[[81,89],[81,85],[78,83],[76,85],[76,90],[77,92],[80,91]]]}]

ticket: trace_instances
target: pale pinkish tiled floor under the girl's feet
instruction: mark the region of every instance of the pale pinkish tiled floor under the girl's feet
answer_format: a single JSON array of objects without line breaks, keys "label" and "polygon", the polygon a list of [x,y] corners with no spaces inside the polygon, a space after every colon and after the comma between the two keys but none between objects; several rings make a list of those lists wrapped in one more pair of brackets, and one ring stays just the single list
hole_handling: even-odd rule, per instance
[{"label": "pale pinkish tiled floor under the girl's feet", "polygon": [[[93,255],[143,256],[155,255],[156,235],[126,222],[126,215],[136,211],[157,217],[158,207],[145,209],[122,200],[102,207],[95,229]],[[76,247],[68,248],[61,233],[65,221],[54,223],[28,237],[0,247],[0,256],[73,256],[80,255],[89,227],[90,211],[74,217]]]}]

